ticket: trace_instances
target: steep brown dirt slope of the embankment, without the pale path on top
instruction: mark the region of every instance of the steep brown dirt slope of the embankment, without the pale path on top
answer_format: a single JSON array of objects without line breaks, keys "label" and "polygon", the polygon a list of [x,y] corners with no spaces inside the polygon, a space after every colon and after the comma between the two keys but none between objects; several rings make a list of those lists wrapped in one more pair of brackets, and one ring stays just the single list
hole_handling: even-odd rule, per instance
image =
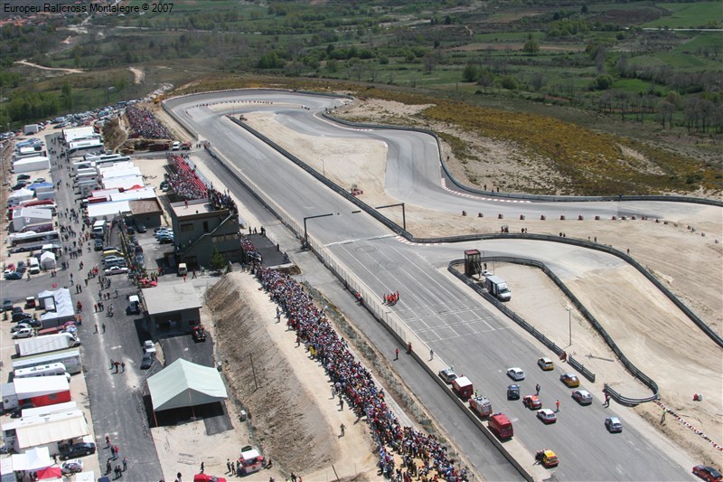
[{"label": "steep brown dirt slope of the embankment, without the pale path on top", "polygon": [[268,325],[259,321],[237,276],[243,275],[226,276],[208,293],[223,364],[236,367],[226,370],[230,392],[249,411],[268,457],[296,473],[329,467],[340,455],[336,437],[330,436],[333,429],[269,336]]}]

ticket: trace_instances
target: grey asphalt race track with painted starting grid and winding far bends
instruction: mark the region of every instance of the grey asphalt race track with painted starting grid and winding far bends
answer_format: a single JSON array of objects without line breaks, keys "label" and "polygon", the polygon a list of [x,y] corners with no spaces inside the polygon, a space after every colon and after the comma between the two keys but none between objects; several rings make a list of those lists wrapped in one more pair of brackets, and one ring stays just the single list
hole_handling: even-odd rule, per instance
[{"label": "grey asphalt race track with painted starting grid and winding far bends", "polygon": [[[229,103],[232,99],[235,102]],[[537,368],[535,361],[540,356],[537,345],[508,329],[506,321],[491,313],[479,298],[440,270],[448,260],[461,258],[463,250],[478,247],[475,246],[478,243],[421,248],[399,242],[370,216],[352,213],[356,210],[352,203],[333,194],[311,175],[235,126],[224,113],[273,110],[288,127],[308,134],[382,140],[389,146],[385,185],[390,194],[400,202],[437,211],[460,213],[464,209],[474,213],[490,210],[517,216],[523,204],[527,215],[536,216],[545,213],[554,217],[560,214],[577,217],[582,213],[586,217],[596,214],[609,217],[629,213],[655,217],[681,210],[693,212],[703,207],[652,202],[500,203],[453,194],[440,182],[437,146],[432,137],[410,131],[339,128],[315,116],[316,112],[344,101],[250,90],[171,99],[167,106],[183,123],[208,139],[255,191],[268,194],[287,221],[301,226],[305,217],[332,214],[307,223],[309,235],[325,246],[325,254],[359,279],[369,293],[380,297],[384,292],[399,290],[401,299],[390,310],[443,360],[454,364],[458,373],[469,376],[482,392],[488,394],[495,410],[505,411],[512,417],[515,437],[531,453],[542,448],[555,449],[559,453],[562,463],[556,469],[555,477],[586,480],[680,480],[690,477],[686,475],[686,468],[676,466],[635,430],[626,428],[622,434],[607,434],[603,421],[606,415],[614,413],[615,408],[604,409],[599,404],[577,406],[570,398],[570,389],[559,382],[559,370],[542,373]],[[214,105],[211,108],[205,104]],[[555,269],[568,269],[578,276],[583,276],[587,269],[622,262],[604,253],[554,242],[505,241],[495,243],[494,251],[539,259]],[[374,302],[379,303],[380,299]],[[533,392],[532,387],[540,383],[544,407],[554,408],[556,400],[561,402],[557,424],[543,426],[534,412],[524,409],[521,402],[505,400],[505,387],[510,381],[504,371],[511,365],[519,365],[528,373],[528,379],[521,383],[523,393]],[[438,389],[434,383],[429,383],[428,390]],[[451,402],[449,407],[453,410]],[[470,427],[471,424],[446,426],[446,430],[454,436],[455,430],[470,430]],[[484,463],[476,468],[489,478],[505,478],[502,472],[485,472]]]}]

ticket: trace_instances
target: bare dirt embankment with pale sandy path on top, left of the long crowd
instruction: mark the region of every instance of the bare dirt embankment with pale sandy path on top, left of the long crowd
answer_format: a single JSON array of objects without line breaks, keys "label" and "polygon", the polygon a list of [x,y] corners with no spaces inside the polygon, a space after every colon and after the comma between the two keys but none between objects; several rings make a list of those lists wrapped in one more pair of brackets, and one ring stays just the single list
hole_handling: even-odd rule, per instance
[{"label": "bare dirt embankment with pale sandy path on top, left of the long crowd", "polygon": [[229,389],[251,415],[264,453],[308,480],[334,478],[332,464],[339,477],[376,478],[366,424],[339,411],[324,369],[276,323],[276,305],[258,282],[234,272],[211,288],[208,307]]}]

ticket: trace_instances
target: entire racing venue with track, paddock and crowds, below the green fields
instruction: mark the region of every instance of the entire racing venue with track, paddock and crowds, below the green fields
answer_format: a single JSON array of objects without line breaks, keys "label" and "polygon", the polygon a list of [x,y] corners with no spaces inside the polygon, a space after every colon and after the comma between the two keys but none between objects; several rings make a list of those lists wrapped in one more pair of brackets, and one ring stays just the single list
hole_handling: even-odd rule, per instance
[{"label": "entire racing venue with track, paddock and crowds, below the green fields", "polygon": [[321,115],[380,109],[413,114],[223,91],[5,141],[3,480],[719,468],[720,203],[472,192],[434,137]]}]

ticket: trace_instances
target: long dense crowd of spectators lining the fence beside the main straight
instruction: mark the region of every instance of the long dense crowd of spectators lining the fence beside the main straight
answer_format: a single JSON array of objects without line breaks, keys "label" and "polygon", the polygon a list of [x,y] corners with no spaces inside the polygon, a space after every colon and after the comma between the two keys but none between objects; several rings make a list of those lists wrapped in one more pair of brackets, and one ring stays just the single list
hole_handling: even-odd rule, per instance
[{"label": "long dense crowd of spectators lining the fence beside the main straight", "polygon": [[[242,238],[243,240],[243,238]],[[249,250],[255,250],[248,239]],[[242,241],[243,243],[243,241]],[[384,391],[371,373],[349,350],[347,342],[334,331],[324,311],[315,306],[311,295],[288,275],[261,266],[254,273],[270,297],[283,309],[287,325],[296,331],[296,342],[321,364],[333,382],[335,393],[342,397],[371,428],[379,448],[380,474],[392,480],[439,480],[457,482],[467,479],[466,470],[458,468],[447,456],[446,447],[433,435],[402,427],[385,402]],[[399,454],[399,467],[395,457]]]}]

